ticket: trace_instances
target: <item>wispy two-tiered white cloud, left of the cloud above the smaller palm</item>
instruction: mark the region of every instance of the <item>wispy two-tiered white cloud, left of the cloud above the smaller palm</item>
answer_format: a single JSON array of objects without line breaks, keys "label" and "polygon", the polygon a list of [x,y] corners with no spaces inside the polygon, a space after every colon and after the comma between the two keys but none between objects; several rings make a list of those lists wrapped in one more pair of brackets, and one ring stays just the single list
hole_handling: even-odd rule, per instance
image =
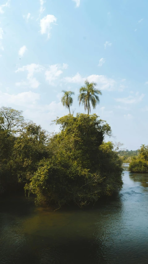
[{"label": "wispy two-tiered white cloud, left of the cloud above the smaller palm", "polygon": [[21,82],[16,82],[16,86],[30,86],[32,88],[38,88],[38,86],[40,85],[40,82],[36,80],[35,77],[33,77],[33,74],[36,72],[41,72],[43,70],[43,66],[39,65],[39,64],[29,64],[26,66],[23,66],[22,68],[18,68],[15,72],[24,72],[27,71],[27,80],[28,83],[21,81]]}]

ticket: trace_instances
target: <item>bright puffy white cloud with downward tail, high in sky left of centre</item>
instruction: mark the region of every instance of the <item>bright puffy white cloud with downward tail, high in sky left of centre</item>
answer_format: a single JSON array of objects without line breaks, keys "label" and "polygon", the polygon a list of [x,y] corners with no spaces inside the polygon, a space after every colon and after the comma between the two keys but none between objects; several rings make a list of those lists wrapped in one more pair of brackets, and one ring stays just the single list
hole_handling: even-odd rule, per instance
[{"label": "bright puffy white cloud with downward tail, high in sky left of centre", "polygon": [[51,24],[56,23],[57,18],[54,15],[46,15],[40,20],[40,33],[43,34],[48,34],[48,38],[50,37],[50,29],[51,29]]}]

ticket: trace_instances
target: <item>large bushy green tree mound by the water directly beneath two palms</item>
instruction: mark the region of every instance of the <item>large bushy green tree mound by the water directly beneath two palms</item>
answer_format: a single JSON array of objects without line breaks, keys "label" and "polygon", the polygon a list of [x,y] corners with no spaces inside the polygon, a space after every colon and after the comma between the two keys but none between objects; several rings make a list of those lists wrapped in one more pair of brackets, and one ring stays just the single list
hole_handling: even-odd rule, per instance
[{"label": "large bushy green tree mound by the water directly beneath two palms", "polygon": [[38,163],[25,186],[36,203],[82,207],[120,189],[122,161],[112,143],[103,143],[110,126],[95,114],[67,115],[56,123],[61,130],[49,139],[49,157]]}]

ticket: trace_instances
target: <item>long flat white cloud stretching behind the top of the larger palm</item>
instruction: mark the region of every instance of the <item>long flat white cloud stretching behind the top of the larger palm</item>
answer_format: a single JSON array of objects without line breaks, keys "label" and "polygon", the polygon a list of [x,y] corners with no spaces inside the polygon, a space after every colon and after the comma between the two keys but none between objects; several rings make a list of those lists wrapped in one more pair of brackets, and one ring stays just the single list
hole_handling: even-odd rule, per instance
[{"label": "long flat white cloud stretching behind the top of the larger palm", "polygon": [[96,75],[96,74],[92,74],[90,76],[87,77],[82,77],[79,73],[77,73],[75,76],[73,77],[65,77],[63,78],[63,80],[65,82],[69,82],[69,83],[79,83],[79,84],[84,84],[85,80],[88,80],[90,82],[94,81],[98,84],[98,86],[100,87],[100,89],[102,90],[114,90],[115,89],[115,84],[116,81],[114,81],[111,78],[108,78],[104,75]]}]

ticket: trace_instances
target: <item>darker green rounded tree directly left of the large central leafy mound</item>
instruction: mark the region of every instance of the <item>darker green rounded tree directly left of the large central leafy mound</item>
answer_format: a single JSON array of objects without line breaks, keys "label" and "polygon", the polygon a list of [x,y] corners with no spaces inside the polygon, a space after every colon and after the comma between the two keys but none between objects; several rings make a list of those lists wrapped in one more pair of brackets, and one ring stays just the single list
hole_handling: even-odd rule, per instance
[{"label": "darker green rounded tree directly left of the large central leafy mound", "polygon": [[31,124],[15,140],[12,153],[12,174],[20,183],[30,180],[38,163],[48,157],[48,134],[40,125]]}]

